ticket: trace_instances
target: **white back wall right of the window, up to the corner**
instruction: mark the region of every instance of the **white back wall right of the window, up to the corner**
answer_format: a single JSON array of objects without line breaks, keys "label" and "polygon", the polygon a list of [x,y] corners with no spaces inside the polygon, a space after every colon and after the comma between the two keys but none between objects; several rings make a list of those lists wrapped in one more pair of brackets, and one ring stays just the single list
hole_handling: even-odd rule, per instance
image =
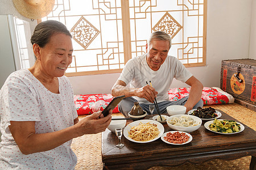
[{"label": "white back wall right of the window, up to the corner", "polygon": [[[188,68],[204,86],[220,87],[223,59],[249,57],[251,3],[250,0],[208,1],[207,65]],[[172,84],[179,86],[183,84]]]}]

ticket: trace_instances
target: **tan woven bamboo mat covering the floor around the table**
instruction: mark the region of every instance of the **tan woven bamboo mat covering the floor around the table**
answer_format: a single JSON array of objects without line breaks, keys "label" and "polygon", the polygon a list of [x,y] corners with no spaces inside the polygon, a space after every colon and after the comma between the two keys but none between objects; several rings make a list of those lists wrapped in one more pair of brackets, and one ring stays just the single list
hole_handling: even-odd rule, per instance
[{"label": "tan woven bamboo mat covering the floor around the table", "polygon": [[[207,106],[209,107],[209,106]],[[210,105],[214,109],[220,109],[221,111],[229,114],[236,118],[238,121],[256,130],[256,112],[251,111],[241,105],[234,104],[223,104],[223,105]],[[113,114],[117,116],[118,114]],[[79,116],[83,118],[84,116]],[[72,150],[77,155],[76,170],[80,169],[102,169],[103,164],[101,160],[101,133],[88,134],[82,137],[73,139]],[[249,169],[251,156],[246,156],[236,160],[210,160],[203,164],[193,165],[185,163],[177,167],[152,167],[149,170],[167,170],[167,169]]]}]

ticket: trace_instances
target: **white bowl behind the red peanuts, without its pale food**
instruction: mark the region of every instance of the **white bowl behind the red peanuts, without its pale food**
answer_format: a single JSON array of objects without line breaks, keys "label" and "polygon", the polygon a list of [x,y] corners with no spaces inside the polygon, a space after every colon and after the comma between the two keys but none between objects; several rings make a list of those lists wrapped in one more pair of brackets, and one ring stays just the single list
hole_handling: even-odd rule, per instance
[{"label": "white bowl behind the red peanuts, without its pale food", "polygon": [[[191,118],[193,118],[193,120],[196,121],[196,123],[198,123],[199,125],[183,127],[183,126],[175,126],[175,125],[172,125],[172,124],[169,123],[169,121],[172,120],[172,118],[174,118],[174,117],[180,118],[181,116],[188,116],[188,117],[191,117]],[[176,115],[174,115],[174,116],[170,116],[170,117],[167,118],[166,122],[167,122],[167,125],[168,125],[171,129],[173,129],[173,130],[179,130],[179,131],[185,131],[185,132],[195,131],[195,130],[199,129],[200,126],[201,126],[201,124],[202,124],[201,118],[196,117],[196,116],[192,116],[192,115],[188,115],[188,114],[185,114],[185,115],[176,114]]]}]

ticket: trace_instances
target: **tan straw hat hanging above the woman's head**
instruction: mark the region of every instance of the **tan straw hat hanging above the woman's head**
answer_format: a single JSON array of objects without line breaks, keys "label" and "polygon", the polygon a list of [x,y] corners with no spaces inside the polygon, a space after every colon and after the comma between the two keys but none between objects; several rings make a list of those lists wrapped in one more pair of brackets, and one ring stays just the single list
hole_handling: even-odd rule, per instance
[{"label": "tan straw hat hanging above the woman's head", "polygon": [[41,19],[52,11],[55,0],[13,0],[16,10],[30,19]]}]

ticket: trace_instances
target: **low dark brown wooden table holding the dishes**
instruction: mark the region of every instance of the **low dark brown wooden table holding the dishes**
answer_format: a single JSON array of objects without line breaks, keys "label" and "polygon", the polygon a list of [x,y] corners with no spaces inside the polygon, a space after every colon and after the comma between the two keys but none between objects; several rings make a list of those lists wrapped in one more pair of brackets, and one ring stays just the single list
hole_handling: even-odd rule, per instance
[{"label": "low dark brown wooden table holding the dishes", "polygon": [[[220,110],[218,110],[220,111]],[[236,120],[220,111],[221,119]],[[146,117],[147,118],[147,117]],[[237,121],[237,120],[236,120]],[[238,121],[239,122],[239,121]],[[256,133],[246,125],[237,134],[217,134],[205,129],[190,133],[193,140],[186,145],[169,145],[160,138],[150,143],[135,143],[122,136],[125,147],[115,147],[118,138],[110,130],[102,133],[104,169],[148,169],[155,166],[176,166],[186,162],[200,164],[212,159],[234,160],[251,155],[250,169],[255,169]],[[165,123],[164,132],[172,129]]]}]

